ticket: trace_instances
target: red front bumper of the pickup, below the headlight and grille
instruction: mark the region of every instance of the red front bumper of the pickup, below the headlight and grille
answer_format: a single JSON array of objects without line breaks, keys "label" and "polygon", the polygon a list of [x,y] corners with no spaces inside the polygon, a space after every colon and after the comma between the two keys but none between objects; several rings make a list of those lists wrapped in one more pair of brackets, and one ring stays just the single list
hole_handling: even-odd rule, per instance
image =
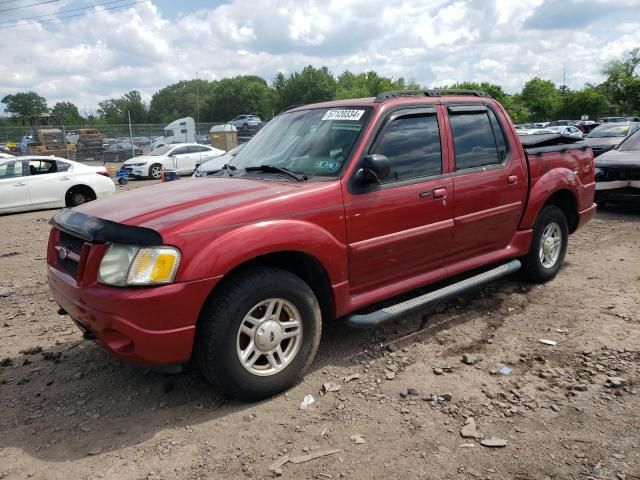
[{"label": "red front bumper of the pickup, below the headlight and grille", "polygon": [[186,363],[200,310],[218,278],[161,287],[78,287],[49,265],[53,297],[83,332],[117,358],[137,365]]}]

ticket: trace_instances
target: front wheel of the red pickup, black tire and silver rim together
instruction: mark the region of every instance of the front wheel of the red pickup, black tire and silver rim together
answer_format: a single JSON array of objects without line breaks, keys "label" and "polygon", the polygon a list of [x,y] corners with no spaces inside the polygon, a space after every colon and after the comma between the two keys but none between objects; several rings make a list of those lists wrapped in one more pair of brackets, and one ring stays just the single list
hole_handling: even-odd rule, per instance
[{"label": "front wheel of the red pickup, black tire and silver rim together", "polygon": [[242,400],[293,385],[320,343],[318,301],[299,277],[259,267],[229,279],[205,306],[196,361],[211,382]]}]

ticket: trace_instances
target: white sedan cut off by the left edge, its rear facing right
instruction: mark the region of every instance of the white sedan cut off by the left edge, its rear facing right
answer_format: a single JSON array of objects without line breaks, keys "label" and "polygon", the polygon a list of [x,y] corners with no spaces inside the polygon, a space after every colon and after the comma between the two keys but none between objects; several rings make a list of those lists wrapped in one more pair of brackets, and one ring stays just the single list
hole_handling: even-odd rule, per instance
[{"label": "white sedan cut off by the left edge, its rear facing right", "polygon": [[115,191],[105,167],[53,156],[0,159],[0,213],[75,207]]}]

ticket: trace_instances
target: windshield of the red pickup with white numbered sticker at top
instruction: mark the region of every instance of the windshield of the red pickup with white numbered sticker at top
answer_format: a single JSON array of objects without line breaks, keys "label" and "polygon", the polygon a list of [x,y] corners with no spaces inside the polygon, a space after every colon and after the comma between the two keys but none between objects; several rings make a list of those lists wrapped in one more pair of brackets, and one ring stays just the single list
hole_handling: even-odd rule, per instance
[{"label": "windshield of the red pickup with white numbered sticker at top", "polygon": [[237,169],[271,165],[309,177],[336,176],[371,110],[340,107],[284,113],[260,130],[230,163]]}]

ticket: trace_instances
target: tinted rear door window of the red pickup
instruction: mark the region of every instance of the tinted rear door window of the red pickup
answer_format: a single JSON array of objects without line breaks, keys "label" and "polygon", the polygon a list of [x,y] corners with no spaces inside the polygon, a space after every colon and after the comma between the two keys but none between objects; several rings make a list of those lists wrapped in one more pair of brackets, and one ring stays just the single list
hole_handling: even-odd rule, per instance
[{"label": "tinted rear door window of the red pickup", "polygon": [[494,113],[449,111],[456,155],[456,170],[498,165],[507,154],[507,144]]}]

